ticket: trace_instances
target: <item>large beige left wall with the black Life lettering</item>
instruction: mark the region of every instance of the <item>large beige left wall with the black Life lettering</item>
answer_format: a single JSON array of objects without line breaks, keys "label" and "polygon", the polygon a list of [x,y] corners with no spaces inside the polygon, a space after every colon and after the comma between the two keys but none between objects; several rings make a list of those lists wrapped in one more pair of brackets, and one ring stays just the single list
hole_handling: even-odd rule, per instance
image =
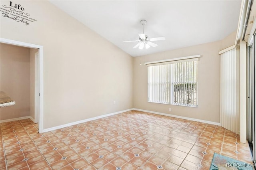
[{"label": "large beige left wall with the black Life lettering", "polygon": [[37,22],[0,16],[0,35],[44,47],[43,128],[132,108],[130,55],[48,1],[15,3]]}]

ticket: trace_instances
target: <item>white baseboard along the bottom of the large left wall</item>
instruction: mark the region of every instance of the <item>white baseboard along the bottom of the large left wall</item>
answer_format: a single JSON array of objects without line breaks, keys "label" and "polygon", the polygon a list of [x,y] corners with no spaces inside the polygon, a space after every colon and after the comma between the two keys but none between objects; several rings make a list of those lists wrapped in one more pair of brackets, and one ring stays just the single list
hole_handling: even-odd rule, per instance
[{"label": "white baseboard along the bottom of the large left wall", "polygon": [[102,115],[102,116],[97,116],[97,117],[92,117],[92,118],[89,118],[89,119],[84,119],[84,120],[81,120],[81,121],[76,121],[76,122],[72,122],[72,123],[67,123],[67,124],[65,124],[65,125],[60,125],[60,126],[56,126],[56,127],[52,127],[52,128],[46,128],[46,129],[43,129],[42,131],[43,131],[43,132],[49,132],[49,131],[56,130],[56,129],[59,129],[59,128],[69,127],[69,126],[72,126],[72,125],[77,125],[77,124],[79,124],[79,123],[84,123],[84,122],[88,122],[88,121],[93,121],[93,120],[100,119],[100,118],[103,118],[103,117],[108,117],[108,116],[112,116],[112,115],[117,115],[117,114],[124,113],[124,112],[127,112],[127,111],[132,111],[132,110],[133,110],[133,109],[127,109],[127,110],[123,110],[123,111],[118,111],[118,112],[114,112],[114,113],[109,113],[109,114]]}]

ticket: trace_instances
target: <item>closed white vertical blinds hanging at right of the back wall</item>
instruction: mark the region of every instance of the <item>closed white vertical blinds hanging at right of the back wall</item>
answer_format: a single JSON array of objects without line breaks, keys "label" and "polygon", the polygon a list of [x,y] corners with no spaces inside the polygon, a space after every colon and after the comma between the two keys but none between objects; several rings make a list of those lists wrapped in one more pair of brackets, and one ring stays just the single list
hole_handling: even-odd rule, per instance
[{"label": "closed white vertical blinds hanging at right of the back wall", "polygon": [[238,53],[232,49],[220,55],[220,125],[239,132]]}]

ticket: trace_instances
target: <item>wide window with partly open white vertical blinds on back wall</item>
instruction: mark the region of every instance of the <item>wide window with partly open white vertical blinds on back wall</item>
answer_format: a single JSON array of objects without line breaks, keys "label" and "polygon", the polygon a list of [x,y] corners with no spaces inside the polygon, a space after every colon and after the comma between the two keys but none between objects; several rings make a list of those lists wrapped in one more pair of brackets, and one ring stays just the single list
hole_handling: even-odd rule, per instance
[{"label": "wide window with partly open white vertical blinds on back wall", "polygon": [[148,65],[148,102],[197,107],[198,58]]}]

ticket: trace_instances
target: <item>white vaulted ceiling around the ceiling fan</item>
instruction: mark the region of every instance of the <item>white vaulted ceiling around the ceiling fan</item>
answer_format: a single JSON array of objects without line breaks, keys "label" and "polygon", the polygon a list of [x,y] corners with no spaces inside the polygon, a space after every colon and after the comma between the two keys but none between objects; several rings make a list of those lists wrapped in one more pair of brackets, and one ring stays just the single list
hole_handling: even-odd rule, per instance
[{"label": "white vaulted ceiling around the ceiling fan", "polygon": [[[222,40],[236,31],[241,0],[50,0],[132,56]],[[157,47],[134,49],[140,20]],[[86,38],[86,37],[85,37]]]}]

